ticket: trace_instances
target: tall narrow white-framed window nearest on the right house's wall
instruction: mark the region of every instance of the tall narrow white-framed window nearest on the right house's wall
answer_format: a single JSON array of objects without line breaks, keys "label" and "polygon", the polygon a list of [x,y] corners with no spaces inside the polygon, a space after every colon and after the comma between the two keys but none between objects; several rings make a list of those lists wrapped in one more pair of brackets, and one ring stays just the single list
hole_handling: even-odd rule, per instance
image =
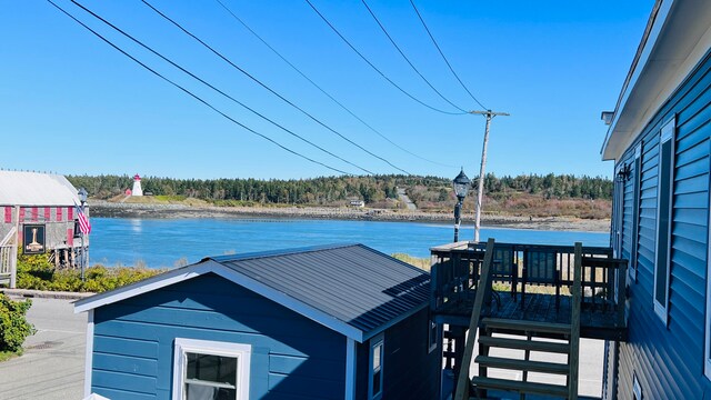
[{"label": "tall narrow white-framed window nearest on the right house's wall", "polygon": [[669,304],[669,272],[671,256],[672,180],[674,154],[672,118],[661,130],[659,144],[659,176],[657,183],[657,260],[654,262],[654,312],[667,324]]}]

